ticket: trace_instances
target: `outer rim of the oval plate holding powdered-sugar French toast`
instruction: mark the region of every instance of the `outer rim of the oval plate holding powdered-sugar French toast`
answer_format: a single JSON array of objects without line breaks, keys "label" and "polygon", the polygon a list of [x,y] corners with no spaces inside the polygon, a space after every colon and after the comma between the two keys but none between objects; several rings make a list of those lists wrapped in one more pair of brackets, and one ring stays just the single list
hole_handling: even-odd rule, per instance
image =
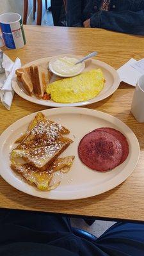
[{"label": "outer rim of the oval plate holding powdered-sugar French toast", "polygon": [[[0,145],[1,145],[1,147],[0,147],[0,157],[1,157],[1,154],[3,154],[3,150],[2,150],[3,149],[3,143],[4,143],[3,139],[5,138],[6,133],[10,129],[12,129],[13,125],[19,124],[19,122],[21,122],[21,121],[26,121],[25,122],[26,124],[27,124],[27,122],[29,123],[29,120],[27,120],[27,119],[33,118],[33,116],[35,116],[36,113],[38,113],[38,112],[40,112],[40,111],[37,111],[35,113],[31,113],[27,116],[24,116],[24,117],[20,118],[19,120],[14,122],[12,125],[10,125],[1,134],[1,136],[0,136]],[[29,193],[29,191],[24,191],[24,189],[18,189],[17,186],[13,186],[13,182],[11,182],[10,180],[8,181],[8,179],[4,179],[4,172],[2,171],[3,168],[1,168],[1,166],[3,166],[3,164],[0,163],[0,175],[1,175],[1,177],[3,177],[3,179],[6,180],[6,182],[8,182],[8,184],[13,186],[17,190],[22,191],[23,193],[26,193],[28,195],[32,195],[32,196],[36,196],[36,197],[40,197],[40,198],[46,198],[46,199],[52,199],[52,200],[76,200],[76,199],[88,198],[88,197],[91,197],[91,196],[96,196],[96,195],[100,195],[102,193],[105,193],[106,191],[109,191],[109,190],[115,188],[116,186],[120,185],[122,182],[124,182],[131,175],[131,173],[134,171],[134,169],[136,167],[136,164],[138,163],[138,160],[139,160],[139,157],[140,157],[140,144],[139,144],[138,139],[136,138],[136,135],[134,134],[134,132],[124,122],[122,122],[121,120],[119,120],[115,116],[109,115],[109,114],[104,113],[102,111],[97,111],[97,110],[88,109],[88,108],[68,108],[68,107],[67,108],[53,108],[53,109],[44,109],[41,112],[44,113],[46,116],[49,115],[49,113],[51,115],[54,115],[54,113],[56,113],[56,115],[61,114],[61,113],[80,113],[80,114],[84,114],[84,115],[92,114],[91,116],[95,116],[95,118],[99,117],[99,118],[106,119],[106,120],[109,120],[109,118],[112,118],[113,120],[115,120],[115,124],[117,124],[117,123],[118,123],[118,125],[120,124],[120,129],[121,129],[121,125],[122,125],[122,129],[123,129],[123,127],[125,127],[125,129],[127,131],[132,132],[132,137],[133,137],[133,139],[135,140],[135,142],[137,144],[136,146],[137,146],[137,150],[138,150],[136,160],[135,160],[134,165],[132,166],[132,170],[130,172],[125,173],[125,175],[123,175],[123,177],[121,177],[120,180],[118,180],[116,182],[115,177],[113,178],[115,180],[115,182],[113,182],[113,183],[115,183],[115,184],[112,183],[112,184],[108,185],[108,188],[100,189],[99,193],[93,193],[93,190],[91,191],[91,189],[90,189],[88,195],[84,195],[84,196],[83,195],[81,195],[81,196],[73,195],[73,196],[70,196],[70,198],[68,198],[68,196],[64,196],[64,197],[63,196],[62,197],[61,196],[60,197],[59,196],[58,197],[52,196],[51,192],[45,192],[45,193],[49,193],[49,194],[46,194],[47,196],[45,196],[44,191],[36,191],[36,193],[40,192],[40,195],[35,195],[35,193],[33,193],[33,191],[31,191],[31,193]],[[100,115],[102,115],[102,116],[100,116]],[[41,193],[42,193],[42,195],[41,195]],[[82,190],[81,193],[83,193],[83,190]]]}]

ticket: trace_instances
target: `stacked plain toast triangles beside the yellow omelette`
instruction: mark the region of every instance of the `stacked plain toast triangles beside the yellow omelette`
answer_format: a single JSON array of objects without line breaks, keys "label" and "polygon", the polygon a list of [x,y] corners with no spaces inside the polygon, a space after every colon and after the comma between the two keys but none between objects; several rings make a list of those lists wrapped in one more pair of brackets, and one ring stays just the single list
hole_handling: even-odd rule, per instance
[{"label": "stacked plain toast triangles beside the yellow omelette", "polygon": [[16,70],[17,81],[21,82],[29,95],[34,94],[42,99],[45,88],[49,84],[52,73],[47,68],[48,64],[31,65]]}]

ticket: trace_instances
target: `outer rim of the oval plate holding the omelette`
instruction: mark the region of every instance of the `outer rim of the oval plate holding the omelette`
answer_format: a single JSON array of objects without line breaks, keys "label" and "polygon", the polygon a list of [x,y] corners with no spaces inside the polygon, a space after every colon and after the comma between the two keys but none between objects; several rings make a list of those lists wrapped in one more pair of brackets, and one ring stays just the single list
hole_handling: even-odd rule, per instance
[{"label": "outer rim of the oval plate holding the omelette", "polygon": [[[71,54],[71,55],[79,58],[78,55],[75,55],[75,54]],[[60,56],[60,55],[58,55],[58,56]],[[62,54],[61,54],[61,56],[62,56]],[[34,61],[29,62],[29,63],[26,63],[22,67],[28,67],[29,65],[33,65],[38,61],[42,61],[42,62],[50,61],[50,60],[52,60],[52,58],[56,58],[56,57],[57,56],[52,56],[52,57],[45,57],[45,58],[41,58],[41,59],[38,59],[38,60],[34,60]],[[15,91],[15,93],[17,93],[17,95],[22,97],[22,99],[28,100],[29,102],[33,102],[33,103],[38,104],[38,105],[52,107],[52,108],[60,108],[60,107],[66,107],[67,108],[67,107],[79,107],[79,106],[83,107],[83,106],[86,106],[86,105],[94,104],[96,102],[99,102],[101,100],[104,100],[104,99],[108,98],[109,96],[111,96],[118,89],[118,86],[120,85],[120,77],[118,75],[118,72],[115,70],[115,68],[111,67],[107,63],[105,63],[103,61],[100,61],[100,60],[97,60],[97,59],[93,59],[93,58],[91,58],[90,60],[92,60],[94,62],[97,62],[98,65],[102,65],[102,67],[106,68],[107,70],[110,70],[109,72],[113,73],[113,76],[114,76],[114,83],[113,83],[113,86],[111,86],[111,90],[108,91],[109,93],[105,93],[106,95],[104,97],[102,97],[102,99],[99,99],[99,98],[101,98],[100,95],[97,95],[96,97],[94,97],[90,100],[86,100],[86,101],[83,101],[83,102],[75,102],[75,103],[58,103],[58,102],[49,101],[49,100],[36,99],[36,97],[31,97],[31,96],[27,95],[26,93],[24,93],[20,88],[17,88],[17,87],[19,87],[19,84],[17,83],[17,79],[16,79],[17,76],[16,75],[13,76],[13,79],[12,79],[12,88]],[[94,102],[93,102],[93,99],[95,99]]]}]

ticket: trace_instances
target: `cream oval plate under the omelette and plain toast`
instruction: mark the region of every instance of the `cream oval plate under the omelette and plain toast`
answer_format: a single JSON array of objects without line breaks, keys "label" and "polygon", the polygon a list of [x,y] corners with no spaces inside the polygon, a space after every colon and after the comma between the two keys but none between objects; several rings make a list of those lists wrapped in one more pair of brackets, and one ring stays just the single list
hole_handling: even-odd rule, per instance
[{"label": "cream oval plate under the omelette and plain toast", "polygon": [[[61,56],[65,56],[65,54],[63,54]],[[78,56],[75,56],[75,55],[73,55],[73,57],[79,58]],[[40,60],[35,60],[35,61],[32,61],[32,62],[24,65],[24,67],[28,67],[29,65],[32,65],[32,64],[38,65],[38,64],[42,64],[42,63],[47,63],[47,67],[48,67],[48,63],[51,59],[52,58],[43,58]],[[87,101],[83,101],[83,102],[76,102],[76,103],[71,103],[71,104],[63,104],[63,103],[54,102],[52,100],[37,99],[34,95],[31,97],[26,93],[26,91],[24,91],[24,88],[22,88],[22,83],[17,82],[16,76],[13,77],[12,87],[13,87],[13,90],[23,99],[29,100],[30,102],[33,102],[36,104],[49,106],[49,107],[84,106],[84,105],[92,104],[92,103],[98,102],[100,100],[106,99],[107,97],[109,97],[111,94],[113,94],[116,91],[116,89],[118,88],[118,86],[120,84],[120,78],[114,68],[112,68],[111,66],[109,66],[108,64],[106,64],[102,61],[94,60],[94,59],[85,61],[85,65],[86,65],[86,68],[84,69],[84,72],[88,71],[88,70],[95,69],[95,68],[101,68],[101,70],[104,74],[104,78],[106,79],[106,84],[104,86],[104,89],[99,93],[99,95],[97,95],[96,97],[94,97],[91,100],[87,100]],[[56,77],[55,75],[52,76],[52,81],[56,81],[56,79],[58,79],[58,77]]]}]

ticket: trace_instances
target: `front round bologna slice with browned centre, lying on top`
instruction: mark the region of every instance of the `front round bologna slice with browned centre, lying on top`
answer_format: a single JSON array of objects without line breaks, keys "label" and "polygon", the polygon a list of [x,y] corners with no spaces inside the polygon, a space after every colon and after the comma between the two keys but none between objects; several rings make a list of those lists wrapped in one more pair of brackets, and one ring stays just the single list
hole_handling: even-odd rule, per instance
[{"label": "front round bologna slice with browned centre, lying on top", "polygon": [[86,134],[78,147],[81,161],[92,170],[99,172],[118,166],[122,153],[120,141],[105,131],[93,131]]}]

